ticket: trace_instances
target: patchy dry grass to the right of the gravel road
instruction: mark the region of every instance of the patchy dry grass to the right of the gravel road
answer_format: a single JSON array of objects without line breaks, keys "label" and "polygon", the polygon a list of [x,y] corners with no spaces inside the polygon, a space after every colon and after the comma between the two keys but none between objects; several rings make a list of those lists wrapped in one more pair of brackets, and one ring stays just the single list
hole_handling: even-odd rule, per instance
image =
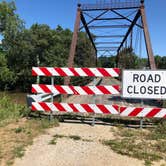
[{"label": "patchy dry grass to the right of the gravel road", "polygon": [[145,166],[153,161],[166,161],[166,122],[154,129],[138,130],[118,128],[111,130],[116,139],[103,140],[102,143],[121,155],[144,160]]}]

